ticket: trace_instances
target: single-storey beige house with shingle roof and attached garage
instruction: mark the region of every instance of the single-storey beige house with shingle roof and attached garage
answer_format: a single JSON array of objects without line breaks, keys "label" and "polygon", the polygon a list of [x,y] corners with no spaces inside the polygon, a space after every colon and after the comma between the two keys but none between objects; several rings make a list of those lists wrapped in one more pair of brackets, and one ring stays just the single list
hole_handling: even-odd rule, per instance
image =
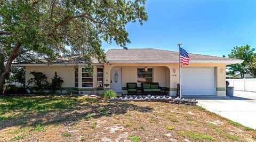
[{"label": "single-storey beige house with shingle roof and attached garage", "polygon": [[[64,80],[60,90],[78,90],[79,94],[101,94],[111,88],[127,94],[126,83],[158,82],[175,96],[179,83],[179,52],[161,49],[109,49],[107,62],[93,60],[94,71],[90,76],[85,63],[77,59],[58,59],[51,65],[45,63],[19,63],[26,66],[27,80],[30,71],[46,74],[49,81],[58,72]],[[226,65],[242,60],[225,57],[189,54],[190,64],[181,68],[182,95],[226,96]]]}]

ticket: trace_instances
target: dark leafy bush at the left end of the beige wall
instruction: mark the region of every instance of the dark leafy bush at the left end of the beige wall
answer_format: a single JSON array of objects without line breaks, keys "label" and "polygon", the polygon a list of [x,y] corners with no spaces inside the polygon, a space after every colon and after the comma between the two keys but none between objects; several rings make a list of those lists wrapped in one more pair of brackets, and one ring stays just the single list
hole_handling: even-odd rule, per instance
[{"label": "dark leafy bush at the left end of the beige wall", "polygon": [[30,78],[28,80],[28,85],[33,84],[32,89],[36,90],[37,93],[42,93],[43,90],[47,90],[49,88],[49,82],[47,81],[47,77],[44,73],[31,71],[29,74],[32,74],[34,78]]}]

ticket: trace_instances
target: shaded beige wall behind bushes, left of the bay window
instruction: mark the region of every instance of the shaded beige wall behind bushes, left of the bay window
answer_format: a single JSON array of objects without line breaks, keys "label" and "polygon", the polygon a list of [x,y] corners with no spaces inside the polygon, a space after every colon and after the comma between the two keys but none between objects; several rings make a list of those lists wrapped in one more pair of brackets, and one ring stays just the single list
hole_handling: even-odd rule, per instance
[{"label": "shaded beige wall behind bushes, left of the bay window", "polygon": [[26,86],[28,85],[27,81],[33,77],[29,74],[30,71],[43,72],[49,82],[51,82],[51,78],[53,78],[56,71],[64,81],[62,87],[75,87],[74,66],[26,66]]}]

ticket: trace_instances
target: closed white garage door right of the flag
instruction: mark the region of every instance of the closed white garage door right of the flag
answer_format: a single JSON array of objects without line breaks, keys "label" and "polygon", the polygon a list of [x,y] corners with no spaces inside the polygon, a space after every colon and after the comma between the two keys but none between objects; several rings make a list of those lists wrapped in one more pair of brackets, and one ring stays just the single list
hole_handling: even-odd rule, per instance
[{"label": "closed white garage door right of the flag", "polygon": [[215,95],[214,68],[181,68],[181,94]]}]

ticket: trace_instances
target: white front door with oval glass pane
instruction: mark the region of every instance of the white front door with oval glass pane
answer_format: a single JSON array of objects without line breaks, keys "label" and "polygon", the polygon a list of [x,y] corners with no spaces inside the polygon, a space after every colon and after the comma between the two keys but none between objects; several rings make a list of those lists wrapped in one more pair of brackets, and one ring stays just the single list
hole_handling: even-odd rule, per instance
[{"label": "white front door with oval glass pane", "polygon": [[114,67],[111,70],[110,88],[116,92],[122,92],[121,67]]}]

